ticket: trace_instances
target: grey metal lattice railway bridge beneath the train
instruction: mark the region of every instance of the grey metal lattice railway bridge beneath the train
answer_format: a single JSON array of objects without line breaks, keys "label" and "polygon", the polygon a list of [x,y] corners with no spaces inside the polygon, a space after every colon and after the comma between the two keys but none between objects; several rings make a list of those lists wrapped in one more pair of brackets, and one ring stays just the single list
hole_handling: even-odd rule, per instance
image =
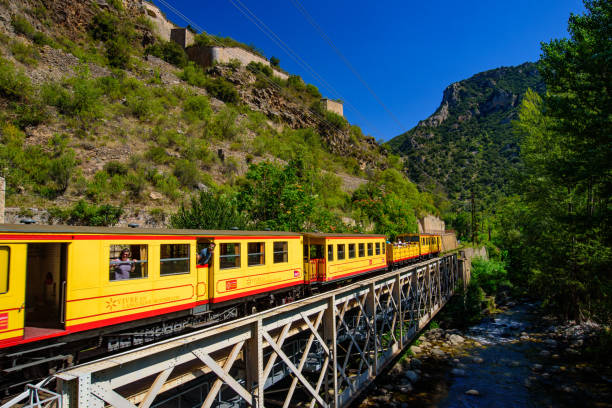
[{"label": "grey metal lattice railway bridge beneath the train", "polygon": [[[346,407],[453,294],[456,254],[71,367],[0,408]],[[25,400],[25,401],[24,401]]]}]

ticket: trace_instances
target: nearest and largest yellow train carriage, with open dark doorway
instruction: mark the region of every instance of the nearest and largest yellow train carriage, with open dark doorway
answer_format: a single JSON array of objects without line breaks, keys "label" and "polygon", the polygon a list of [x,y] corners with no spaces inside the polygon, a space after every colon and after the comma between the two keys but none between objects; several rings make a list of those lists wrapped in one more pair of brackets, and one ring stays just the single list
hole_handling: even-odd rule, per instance
[{"label": "nearest and largest yellow train carriage, with open dark doorway", "polygon": [[[0,226],[0,348],[301,290],[301,241],[268,231]],[[211,242],[212,263],[196,265]]]}]

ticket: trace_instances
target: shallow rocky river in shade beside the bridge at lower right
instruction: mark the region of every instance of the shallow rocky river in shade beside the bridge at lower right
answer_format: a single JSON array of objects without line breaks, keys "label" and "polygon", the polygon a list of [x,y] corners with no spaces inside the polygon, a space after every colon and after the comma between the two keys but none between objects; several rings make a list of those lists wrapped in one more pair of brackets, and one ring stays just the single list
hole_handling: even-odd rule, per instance
[{"label": "shallow rocky river in shade beside the bridge at lower right", "polygon": [[600,330],[509,302],[467,330],[424,332],[356,406],[612,407],[612,358],[585,357]]}]

